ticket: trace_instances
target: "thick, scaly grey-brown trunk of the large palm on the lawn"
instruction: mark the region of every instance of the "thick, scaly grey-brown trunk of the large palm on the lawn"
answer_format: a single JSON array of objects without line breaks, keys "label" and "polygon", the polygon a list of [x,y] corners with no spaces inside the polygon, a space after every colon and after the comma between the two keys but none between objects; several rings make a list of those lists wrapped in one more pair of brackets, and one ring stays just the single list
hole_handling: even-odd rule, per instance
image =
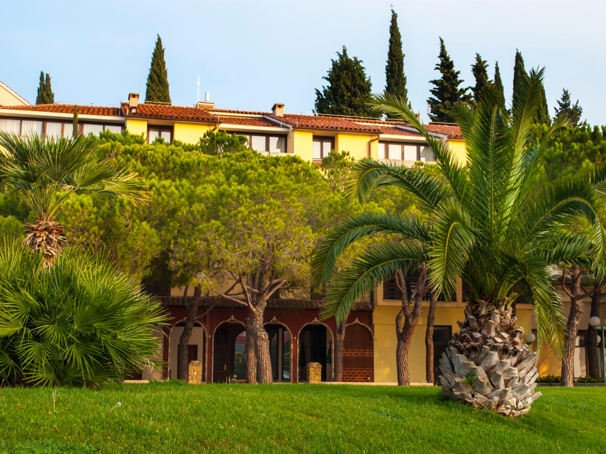
[{"label": "thick, scaly grey-brown trunk of the large palm on the lawn", "polygon": [[484,301],[468,304],[461,331],[454,333],[440,360],[442,394],[476,408],[516,417],[541,396],[536,353],[522,341],[510,306]]}]

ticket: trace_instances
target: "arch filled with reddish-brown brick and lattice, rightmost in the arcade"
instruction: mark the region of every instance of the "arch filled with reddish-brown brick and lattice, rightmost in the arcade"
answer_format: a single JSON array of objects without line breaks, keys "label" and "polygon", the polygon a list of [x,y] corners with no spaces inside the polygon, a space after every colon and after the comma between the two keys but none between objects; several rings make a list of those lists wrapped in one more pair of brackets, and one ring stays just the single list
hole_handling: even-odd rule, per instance
[{"label": "arch filled with reddish-brown brick and lattice, rightmost in the arcade", "polygon": [[373,335],[366,325],[351,323],[343,342],[343,381],[374,381]]}]

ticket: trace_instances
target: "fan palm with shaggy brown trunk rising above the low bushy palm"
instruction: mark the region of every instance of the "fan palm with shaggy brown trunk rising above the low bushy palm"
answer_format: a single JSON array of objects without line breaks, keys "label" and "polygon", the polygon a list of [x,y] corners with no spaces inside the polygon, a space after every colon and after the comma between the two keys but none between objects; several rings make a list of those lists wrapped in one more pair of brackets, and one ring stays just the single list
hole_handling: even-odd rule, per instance
[{"label": "fan palm with shaggy brown trunk rising above the low bushy palm", "polygon": [[29,206],[35,222],[27,224],[24,244],[41,250],[47,265],[67,242],[56,222],[61,208],[77,194],[99,192],[146,200],[145,185],[135,173],[101,159],[95,137],[42,139],[0,133],[0,187],[15,191]]}]

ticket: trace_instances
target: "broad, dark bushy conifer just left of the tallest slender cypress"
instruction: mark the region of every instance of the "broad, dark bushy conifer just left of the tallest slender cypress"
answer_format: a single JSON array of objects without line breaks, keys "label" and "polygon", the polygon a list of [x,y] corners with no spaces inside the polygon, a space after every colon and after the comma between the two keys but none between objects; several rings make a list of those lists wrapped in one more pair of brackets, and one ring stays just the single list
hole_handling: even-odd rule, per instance
[{"label": "broad, dark bushy conifer just left of the tallest slender cypress", "polygon": [[350,58],[347,48],[343,46],[342,53],[337,52],[338,58],[331,59],[332,67],[328,75],[322,77],[328,81],[328,86],[322,86],[322,91],[316,88],[314,113],[347,115],[358,117],[376,117],[365,104],[370,97],[370,77],[365,73],[362,61]]}]

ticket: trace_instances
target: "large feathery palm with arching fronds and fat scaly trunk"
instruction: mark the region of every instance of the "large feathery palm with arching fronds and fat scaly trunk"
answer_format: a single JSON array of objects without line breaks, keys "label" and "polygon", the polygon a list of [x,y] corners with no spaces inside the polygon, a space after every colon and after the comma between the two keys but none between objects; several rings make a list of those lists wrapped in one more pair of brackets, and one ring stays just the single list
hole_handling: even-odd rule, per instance
[{"label": "large feathery palm with arching fronds and fat scaly trunk", "polygon": [[[511,114],[499,108],[498,95],[487,87],[476,107],[455,105],[467,165],[459,165],[448,145],[425,131],[407,102],[388,94],[373,96],[373,108],[398,117],[423,134],[438,157],[445,182],[413,169],[364,159],[352,166],[345,201],[364,202],[377,186],[399,186],[421,200],[431,213],[423,229],[395,228],[399,220],[350,220],[348,229],[322,242],[316,276],[328,283],[324,314],[342,318],[363,292],[410,262],[427,260],[428,281],[450,294],[458,278],[467,283],[468,303],[461,331],[453,335],[440,361],[442,393],[461,403],[519,416],[541,393],[533,393],[536,354],[522,340],[511,304],[523,292],[533,305],[539,347],[562,354],[565,332],[551,267],[591,263],[604,274],[606,234],[596,215],[596,191],[606,172],[556,180],[536,189],[541,159],[558,119],[539,146],[528,135],[541,96],[543,70],[522,82]],[[593,235],[565,232],[579,217],[593,225]],[[410,223],[410,222],[409,222]],[[424,225],[422,222],[418,225]],[[336,257],[348,244],[376,232],[398,233],[400,241],[368,250],[335,277]],[[429,240],[427,240],[427,237]],[[591,258],[595,260],[591,260]]]}]

